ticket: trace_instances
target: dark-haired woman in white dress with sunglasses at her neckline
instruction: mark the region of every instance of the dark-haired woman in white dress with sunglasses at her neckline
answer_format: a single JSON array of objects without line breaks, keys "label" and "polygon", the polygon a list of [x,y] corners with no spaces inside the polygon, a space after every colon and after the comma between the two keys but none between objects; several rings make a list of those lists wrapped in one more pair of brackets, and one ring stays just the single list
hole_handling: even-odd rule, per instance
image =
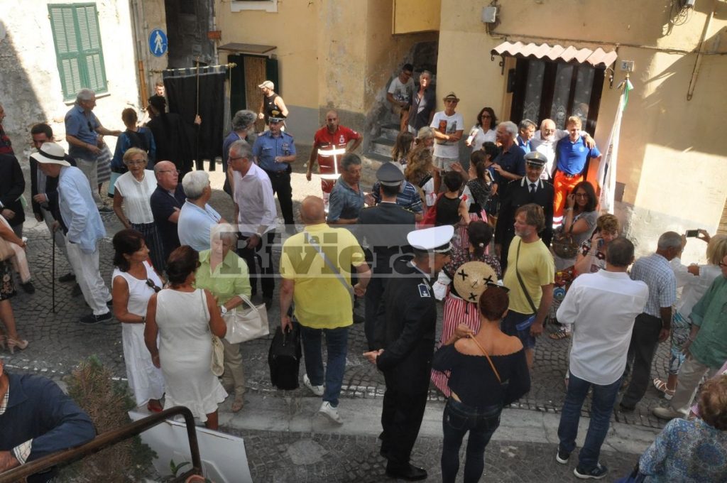
[{"label": "dark-haired woman in white dress with sunglasses at her neckline", "polygon": [[147,404],[152,412],[161,411],[164,396],[164,376],[154,367],[144,344],[146,306],[149,298],[161,290],[161,279],[150,265],[149,249],[144,237],[134,230],[121,230],[113,236],[111,276],[113,315],[121,322],[121,342],[124,347],[126,378],[134,393],[137,406]]}]

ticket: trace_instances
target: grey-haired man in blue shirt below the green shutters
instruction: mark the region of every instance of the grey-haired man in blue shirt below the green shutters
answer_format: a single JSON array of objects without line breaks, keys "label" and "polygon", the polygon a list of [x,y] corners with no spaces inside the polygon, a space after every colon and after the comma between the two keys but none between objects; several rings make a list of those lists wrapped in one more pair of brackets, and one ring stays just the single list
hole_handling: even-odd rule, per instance
[{"label": "grey-haired man in blue shirt below the green shutters", "polygon": [[[103,127],[92,112],[96,107],[96,93],[91,89],[81,89],[76,95],[76,103],[65,114],[65,140],[68,141],[68,156],[76,159],[77,166],[86,175],[91,186],[91,194],[101,212],[110,213],[113,209],[104,207],[96,191],[98,185],[98,159],[108,152],[102,136],[119,136],[121,131],[111,131]],[[111,158],[111,152],[108,152]]]}]

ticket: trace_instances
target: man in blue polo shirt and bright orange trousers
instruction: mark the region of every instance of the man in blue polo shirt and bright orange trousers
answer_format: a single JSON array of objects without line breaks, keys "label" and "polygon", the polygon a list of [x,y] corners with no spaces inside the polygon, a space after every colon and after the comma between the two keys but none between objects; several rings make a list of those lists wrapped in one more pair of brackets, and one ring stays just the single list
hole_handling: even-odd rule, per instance
[{"label": "man in blue polo shirt and bright orange trousers", "polygon": [[589,148],[586,138],[581,135],[581,118],[571,116],[566,121],[568,137],[558,141],[555,148],[558,164],[553,176],[553,187],[555,198],[553,199],[553,223],[561,223],[563,220],[563,208],[566,207],[566,196],[573,191],[573,188],[584,180],[587,161],[601,160],[601,151],[593,145]]}]

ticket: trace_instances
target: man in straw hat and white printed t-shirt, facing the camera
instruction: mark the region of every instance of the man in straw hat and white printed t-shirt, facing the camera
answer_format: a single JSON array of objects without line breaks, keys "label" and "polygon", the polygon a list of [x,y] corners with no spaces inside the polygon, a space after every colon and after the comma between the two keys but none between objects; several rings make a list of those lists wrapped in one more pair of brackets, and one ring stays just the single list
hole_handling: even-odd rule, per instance
[{"label": "man in straw hat and white printed t-shirt, facing the camera", "polygon": [[439,193],[444,173],[459,161],[459,140],[465,132],[465,118],[454,112],[459,97],[449,92],[444,98],[444,111],[434,114],[430,127],[434,129],[434,192]]}]

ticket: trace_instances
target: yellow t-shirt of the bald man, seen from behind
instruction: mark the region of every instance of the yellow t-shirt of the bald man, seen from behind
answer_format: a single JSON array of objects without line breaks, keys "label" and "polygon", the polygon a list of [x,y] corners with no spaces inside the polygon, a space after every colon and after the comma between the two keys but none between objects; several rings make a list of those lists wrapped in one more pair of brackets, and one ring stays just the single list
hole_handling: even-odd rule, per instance
[{"label": "yellow t-shirt of the bald man, seen from behind", "polygon": [[318,251],[305,241],[305,232],[315,239],[347,284],[351,282],[350,267],[365,262],[364,250],[350,231],[331,228],[326,223],[306,226],[304,232],[296,233],[283,244],[280,275],[295,282],[293,300],[298,322],[313,329],[347,327],[353,324],[350,292]]}]

